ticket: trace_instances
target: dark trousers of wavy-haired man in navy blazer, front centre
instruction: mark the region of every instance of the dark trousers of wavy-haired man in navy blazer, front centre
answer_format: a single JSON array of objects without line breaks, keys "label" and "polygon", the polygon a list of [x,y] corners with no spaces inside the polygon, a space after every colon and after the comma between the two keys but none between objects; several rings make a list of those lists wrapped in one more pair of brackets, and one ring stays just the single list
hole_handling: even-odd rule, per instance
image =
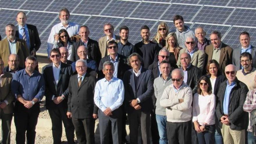
[{"label": "dark trousers of wavy-haired man in navy blazer, front centre", "polygon": [[143,144],[150,144],[150,112],[133,110],[128,113],[130,143],[138,143],[138,126],[141,125],[141,137]]}]

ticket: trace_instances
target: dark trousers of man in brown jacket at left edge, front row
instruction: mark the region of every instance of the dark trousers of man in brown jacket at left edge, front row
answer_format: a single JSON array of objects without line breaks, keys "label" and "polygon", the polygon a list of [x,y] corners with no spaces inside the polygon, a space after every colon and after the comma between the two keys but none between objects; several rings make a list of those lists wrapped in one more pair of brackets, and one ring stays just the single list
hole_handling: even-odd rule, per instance
[{"label": "dark trousers of man in brown jacket at left edge, front row", "polygon": [[11,122],[13,119],[13,113],[5,114],[3,109],[1,109],[0,119],[2,121],[2,144],[10,144],[10,134],[11,134]]}]

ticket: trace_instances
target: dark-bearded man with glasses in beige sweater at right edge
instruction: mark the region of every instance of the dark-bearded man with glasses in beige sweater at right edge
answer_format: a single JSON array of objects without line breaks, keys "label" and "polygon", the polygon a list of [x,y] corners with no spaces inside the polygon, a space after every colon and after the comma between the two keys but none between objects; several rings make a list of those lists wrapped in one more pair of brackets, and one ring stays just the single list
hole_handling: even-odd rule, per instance
[{"label": "dark-bearded man with glasses in beige sweater at right edge", "polygon": [[249,90],[254,90],[256,86],[253,77],[256,75],[256,69],[252,66],[252,55],[248,52],[242,53],[240,56],[240,63],[243,69],[237,71],[237,79],[245,83]]}]

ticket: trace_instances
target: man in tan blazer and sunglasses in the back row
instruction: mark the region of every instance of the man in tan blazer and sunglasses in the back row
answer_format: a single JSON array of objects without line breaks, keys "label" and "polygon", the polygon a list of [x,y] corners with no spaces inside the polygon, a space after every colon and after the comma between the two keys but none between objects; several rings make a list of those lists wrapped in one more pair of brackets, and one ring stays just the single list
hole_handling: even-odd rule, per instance
[{"label": "man in tan blazer and sunglasses in the back row", "polygon": [[103,30],[106,36],[99,38],[99,50],[101,53],[101,58],[109,55],[109,52],[107,51],[107,44],[109,41],[114,40],[117,43],[120,41],[120,36],[114,34],[114,26],[112,24],[104,24]]}]

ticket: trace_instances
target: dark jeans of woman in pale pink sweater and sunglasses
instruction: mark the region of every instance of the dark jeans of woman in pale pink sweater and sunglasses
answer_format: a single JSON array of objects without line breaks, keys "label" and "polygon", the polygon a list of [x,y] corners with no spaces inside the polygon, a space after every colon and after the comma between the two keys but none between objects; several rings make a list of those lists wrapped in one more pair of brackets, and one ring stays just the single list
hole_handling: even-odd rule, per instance
[{"label": "dark jeans of woman in pale pink sweater and sunglasses", "polygon": [[215,124],[207,125],[206,131],[196,133],[198,138],[198,144],[214,144]]}]

